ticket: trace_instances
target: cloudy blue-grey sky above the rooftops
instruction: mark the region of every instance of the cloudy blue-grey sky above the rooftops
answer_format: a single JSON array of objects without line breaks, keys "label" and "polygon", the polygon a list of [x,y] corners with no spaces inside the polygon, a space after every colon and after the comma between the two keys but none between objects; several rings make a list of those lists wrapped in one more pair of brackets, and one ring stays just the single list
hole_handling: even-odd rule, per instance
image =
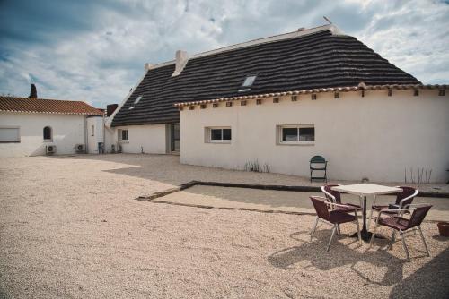
[{"label": "cloudy blue-grey sky above the rooftops", "polygon": [[449,83],[449,1],[0,0],[0,94],[119,103],[144,64],[325,24]]}]

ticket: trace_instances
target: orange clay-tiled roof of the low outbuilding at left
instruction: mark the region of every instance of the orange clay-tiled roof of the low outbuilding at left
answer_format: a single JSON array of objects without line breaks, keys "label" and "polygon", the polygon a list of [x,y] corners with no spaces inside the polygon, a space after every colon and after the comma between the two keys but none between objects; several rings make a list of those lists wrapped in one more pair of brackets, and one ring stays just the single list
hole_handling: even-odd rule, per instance
[{"label": "orange clay-tiled roof of the low outbuilding at left", "polygon": [[103,115],[101,110],[81,101],[2,96],[0,96],[0,111],[66,115]]}]

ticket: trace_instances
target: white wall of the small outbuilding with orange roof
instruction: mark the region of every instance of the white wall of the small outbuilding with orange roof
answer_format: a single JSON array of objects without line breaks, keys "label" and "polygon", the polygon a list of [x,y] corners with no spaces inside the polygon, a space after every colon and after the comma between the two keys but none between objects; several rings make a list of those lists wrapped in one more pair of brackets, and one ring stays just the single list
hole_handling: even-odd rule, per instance
[{"label": "white wall of the small outbuilding with orange roof", "polygon": [[[0,126],[19,126],[21,141],[0,143],[1,157],[45,155],[46,145],[56,145],[57,155],[75,153],[75,144],[84,141],[84,115],[27,114],[0,112]],[[43,129],[50,126],[53,141],[43,140]]]}]

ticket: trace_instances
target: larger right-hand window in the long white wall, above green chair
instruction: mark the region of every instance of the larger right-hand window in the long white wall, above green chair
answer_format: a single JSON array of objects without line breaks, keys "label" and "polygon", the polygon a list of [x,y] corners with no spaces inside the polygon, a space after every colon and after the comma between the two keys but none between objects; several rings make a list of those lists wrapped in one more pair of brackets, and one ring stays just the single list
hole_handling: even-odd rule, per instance
[{"label": "larger right-hand window in the long white wall, above green chair", "polygon": [[278,125],[279,144],[313,144],[315,127],[313,124]]}]

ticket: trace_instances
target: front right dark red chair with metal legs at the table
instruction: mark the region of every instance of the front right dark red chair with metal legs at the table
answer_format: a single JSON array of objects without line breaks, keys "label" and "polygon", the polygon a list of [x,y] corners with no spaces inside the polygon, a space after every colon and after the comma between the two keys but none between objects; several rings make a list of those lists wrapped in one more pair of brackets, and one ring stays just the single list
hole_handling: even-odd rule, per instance
[{"label": "front right dark red chair with metal legs at the table", "polygon": [[[415,208],[410,208],[411,206],[416,206]],[[410,229],[416,230],[418,229],[419,235],[421,235],[422,242],[424,243],[424,247],[426,248],[427,256],[430,256],[430,252],[428,252],[426,239],[424,238],[424,235],[421,231],[421,223],[426,218],[427,212],[429,209],[432,208],[429,204],[419,204],[419,205],[407,205],[406,209],[396,209],[396,212],[401,213],[400,216],[397,214],[391,214],[390,209],[381,209],[379,212],[379,215],[376,218],[375,226],[374,226],[374,232],[371,236],[371,241],[369,243],[369,246],[371,248],[371,245],[373,244],[375,230],[377,226],[387,226],[393,229],[392,232],[392,244],[395,242],[395,236],[396,231],[399,231],[399,234],[401,235],[401,241],[402,246],[404,247],[405,254],[407,255],[407,261],[410,261],[410,255],[409,255],[409,249],[407,248],[407,244],[405,243],[405,232],[409,231]],[[387,217],[381,217],[383,213],[386,213]],[[410,213],[410,218],[404,218],[404,215],[406,213]]]}]

